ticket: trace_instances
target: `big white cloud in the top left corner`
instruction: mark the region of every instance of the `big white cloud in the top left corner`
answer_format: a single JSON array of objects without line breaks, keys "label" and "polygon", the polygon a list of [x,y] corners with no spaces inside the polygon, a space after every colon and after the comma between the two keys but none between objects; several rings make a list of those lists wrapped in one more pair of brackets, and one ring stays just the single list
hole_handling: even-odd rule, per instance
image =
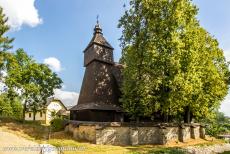
[{"label": "big white cloud in the top left corner", "polygon": [[8,25],[18,30],[22,25],[35,27],[42,23],[35,0],[0,0],[0,6],[8,17]]}]

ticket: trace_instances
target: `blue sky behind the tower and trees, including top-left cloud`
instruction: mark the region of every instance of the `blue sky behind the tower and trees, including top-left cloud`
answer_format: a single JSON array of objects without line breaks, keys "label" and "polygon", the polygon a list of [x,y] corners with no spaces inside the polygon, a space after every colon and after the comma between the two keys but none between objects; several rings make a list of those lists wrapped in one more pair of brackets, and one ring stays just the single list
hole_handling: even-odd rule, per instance
[{"label": "blue sky behind the tower and trees, including top-left cloud", "polygon": [[[57,72],[64,81],[62,91],[75,93],[80,92],[84,75],[82,51],[93,35],[97,15],[104,36],[115,48],[115,60],[119,60],[121,30],[117,24],[124,13],[124,3],[128,0],[0,0],[13,27],[8,35],[15,37],[14,49],[24,48],[39,62],[50,57],[58,60]],[[199,7],[201,25],[219,40],[230,60],[230,1],[194,0],[194,3]],[[226,107],[230,109],[229,105]],[[223,111],[230,115],[226,107]]]}]

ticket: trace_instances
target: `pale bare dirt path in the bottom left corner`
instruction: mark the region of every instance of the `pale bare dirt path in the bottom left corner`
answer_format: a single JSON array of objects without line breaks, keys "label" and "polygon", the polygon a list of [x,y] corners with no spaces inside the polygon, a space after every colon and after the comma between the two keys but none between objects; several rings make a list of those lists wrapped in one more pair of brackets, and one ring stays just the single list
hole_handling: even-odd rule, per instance
[{"label": "pale bare dirt path in the bottom left corner", "polygon": [[39,154],[39,144],[0,129],[0,154]]}]

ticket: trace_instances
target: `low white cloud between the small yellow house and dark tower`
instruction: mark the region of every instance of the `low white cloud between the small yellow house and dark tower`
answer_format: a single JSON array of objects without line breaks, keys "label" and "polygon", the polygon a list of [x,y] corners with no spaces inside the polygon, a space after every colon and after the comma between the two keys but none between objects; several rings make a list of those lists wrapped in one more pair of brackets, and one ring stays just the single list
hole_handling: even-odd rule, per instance
[{"label": "low white cloud between the small yellow house and dark tower", "polygon": [[68,107],[77,104],[79,94],[76,92],[55,89],[54,97],[60,99],[65,104],[65,106]]}]

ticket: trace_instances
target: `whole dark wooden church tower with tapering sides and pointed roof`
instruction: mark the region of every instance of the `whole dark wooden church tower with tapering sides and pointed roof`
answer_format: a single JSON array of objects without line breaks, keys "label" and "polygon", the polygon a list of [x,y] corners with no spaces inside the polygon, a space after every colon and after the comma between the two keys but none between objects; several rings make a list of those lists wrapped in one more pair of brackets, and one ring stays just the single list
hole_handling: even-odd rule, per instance
[{"label": "whole dark wooden church tower with tapering sides and pointed roof", "polygon": [[113,47],[106,41],[97,22],[94,35],[84,50],[85,75],[70,119],[78,121],[123,121],[119,88],[114,76]]}]

